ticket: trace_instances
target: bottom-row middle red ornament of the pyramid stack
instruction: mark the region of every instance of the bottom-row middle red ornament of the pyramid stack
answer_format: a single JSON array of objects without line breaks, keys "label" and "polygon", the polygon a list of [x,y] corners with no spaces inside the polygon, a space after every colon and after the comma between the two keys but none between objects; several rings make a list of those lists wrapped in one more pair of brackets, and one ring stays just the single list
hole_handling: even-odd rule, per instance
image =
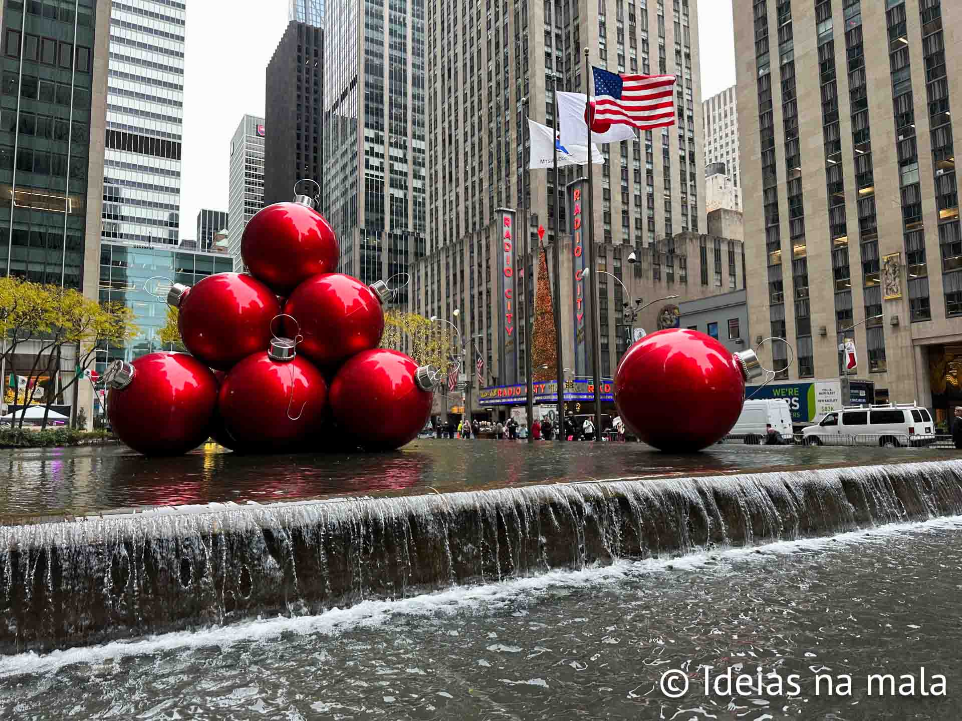
[{"label": "bottom-row middle red ornament of the pyramid stack", "polygon": [[244,453],[303,450],[325,418],[327,384],[290,338],[235,365],[220,385],[217,409],[228,447]]}]

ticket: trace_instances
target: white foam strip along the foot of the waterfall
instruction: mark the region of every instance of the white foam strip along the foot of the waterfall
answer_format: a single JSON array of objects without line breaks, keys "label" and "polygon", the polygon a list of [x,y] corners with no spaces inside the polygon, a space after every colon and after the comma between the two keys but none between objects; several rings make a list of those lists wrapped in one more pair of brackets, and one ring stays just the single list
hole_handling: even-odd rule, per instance
[{"label": "white foam strip along the foot of the waterfall", "polygon": [[[615,584],[638,579],[652,573],[671,570],[696,570],[706,561],[719,559],[752,561],[772,555],[784,556],[799,551],[818,551],[837,544],[882,543],[892,536],[931,533],[938,530],[962,529],[962,515],[933,518],[926,521],[879,526],[848,533],[776,541],[760,546],[717,549],[663,559],[620,560],[612,565],[579,571],[549,571],[541,576],[514,579],[498,584],[452,586],[396,601],[363,601],[349,609],[330,609],[313,616],[277,616],[216,626],[191,632],[151,635],[133,641],[112,641],[39,655],[35,652],[0,659],[0,679],[21,674],[55,672],[74,663],[103,663],[134,656],[149,656],[173,650],[228,648],[239,643],[271,641],[282,634],[342,634],[354,629],[378,628],[395,616],[450,616],[472,609],[492,611],[524,598],[526,601],[558,588],[589,588],[599,584]],[[518,683],[518,682],[516,682]]]}]

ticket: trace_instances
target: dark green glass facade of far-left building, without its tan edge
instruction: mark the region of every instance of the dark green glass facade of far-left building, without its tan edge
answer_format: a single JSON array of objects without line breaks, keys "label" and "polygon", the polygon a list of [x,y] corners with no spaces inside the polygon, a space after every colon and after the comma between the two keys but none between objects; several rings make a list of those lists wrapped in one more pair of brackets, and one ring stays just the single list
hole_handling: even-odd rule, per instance
[{"label": "dark green glass facade of far-left building, without its tan edge", "polygon": [[80,290],[95,0],[6,0],[0,13],[0,274]]}]

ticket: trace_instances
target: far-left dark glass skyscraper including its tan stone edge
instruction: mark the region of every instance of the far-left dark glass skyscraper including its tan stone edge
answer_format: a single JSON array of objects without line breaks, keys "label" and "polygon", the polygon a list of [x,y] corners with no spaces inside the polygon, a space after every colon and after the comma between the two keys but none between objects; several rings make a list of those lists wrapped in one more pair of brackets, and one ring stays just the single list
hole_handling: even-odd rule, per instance
[{"label": "far-left dark glass skyscraper including its tan stone edge", "polygon": [[[110,9],[95,0],[0,8],[0,275],[89,298],[98,284]],[[40,349],[37,340],[21,343],[0,360],[0,375],[29,379]],[[73,376],[74,350],[64,348],[62,379]],[[89,423],[90,385],[74,387],[61,401]]]}]

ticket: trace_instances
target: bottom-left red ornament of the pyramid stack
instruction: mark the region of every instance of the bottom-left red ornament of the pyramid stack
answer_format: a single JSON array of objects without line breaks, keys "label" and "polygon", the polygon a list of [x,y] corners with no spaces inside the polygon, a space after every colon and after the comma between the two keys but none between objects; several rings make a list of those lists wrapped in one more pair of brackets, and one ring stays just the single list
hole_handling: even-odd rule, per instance
[{"label": "bottom-left red ornament of the pyramid stack", "polygon": [[115,360],[104,377],[114,433],[144,456],[179,456],[210,435],[217,381],[186,353]]}]

